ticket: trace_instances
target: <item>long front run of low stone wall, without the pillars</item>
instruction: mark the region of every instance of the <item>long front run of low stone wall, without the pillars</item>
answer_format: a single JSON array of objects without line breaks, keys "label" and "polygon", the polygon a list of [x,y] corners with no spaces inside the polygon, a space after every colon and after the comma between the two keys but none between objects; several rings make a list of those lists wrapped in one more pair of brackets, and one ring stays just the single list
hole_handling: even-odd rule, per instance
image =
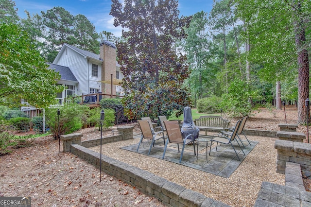
[{"label": "long front run of low stone wall, without the pillars", "polygon": [[[100,168],[100,154],[79,144],[71,144],[70,152]],[[168,207],[229,207],[196,191],[141,170],[127,163],[102,155],[102,171],[135,186],[142,193],[155,197]]]}]

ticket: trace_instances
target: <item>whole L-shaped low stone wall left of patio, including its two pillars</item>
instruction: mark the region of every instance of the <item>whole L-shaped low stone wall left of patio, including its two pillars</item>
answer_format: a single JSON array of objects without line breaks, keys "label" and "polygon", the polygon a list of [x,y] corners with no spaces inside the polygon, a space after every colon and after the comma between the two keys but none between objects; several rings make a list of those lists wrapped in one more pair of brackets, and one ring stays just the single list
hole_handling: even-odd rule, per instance
[{"label": "whole L-shaped low stone wall left of patio, including its two pillars", "polygon": [[[133,138],[133,127],[120,127],[118,132],[120,135],[102,138],[102,144]],[[68,150],[69,147],[68,151],[73,155],[86,160],[100,169],[100,153],[94,152],[87,147],[100,145],[101,139],[97,138],[81,142],[82,136],[82,134],[61,136],[63,146],[65,146],[64,151],[65,149]],[[148,196],[155,197],[168,207],[230,207],[222,202],[207,198],[201,193],[186,189],[165,178],[106,155],[102,155],[102,171],[136,187]]]}]

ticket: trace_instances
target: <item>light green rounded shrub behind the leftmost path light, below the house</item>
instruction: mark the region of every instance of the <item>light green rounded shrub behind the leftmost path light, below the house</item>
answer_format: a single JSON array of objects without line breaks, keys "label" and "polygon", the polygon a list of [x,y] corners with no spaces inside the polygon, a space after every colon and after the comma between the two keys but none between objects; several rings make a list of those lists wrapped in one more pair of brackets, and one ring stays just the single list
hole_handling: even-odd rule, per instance
[{"label": "light green rounded shrub behind the leftmost path light, below the house", "polygon": [[[59,132],[60,135],[72,133],[82,127],[87,120],[89,108],[77,103],[65,103],[59,107]],[[58,137],[58,108],[47,108],[45,110],[46,124],[54,138]]]}]

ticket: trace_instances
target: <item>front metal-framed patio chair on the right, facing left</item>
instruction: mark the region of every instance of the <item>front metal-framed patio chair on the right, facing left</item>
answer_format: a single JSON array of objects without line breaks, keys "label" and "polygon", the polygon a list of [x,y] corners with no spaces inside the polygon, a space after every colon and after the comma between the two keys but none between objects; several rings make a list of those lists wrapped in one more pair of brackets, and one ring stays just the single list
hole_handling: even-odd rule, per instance
[{"label": "front metal-framed patio chair on the right, facing left", "polygon": [[[224,132],[219,132],[218,134],[214,134],[212,136],[211,141],[210,141],[209,155],[210,155],[210,151],[212,149],[212,143],[213,143],[213,141],[216,141],[217,142],[216,151],[217,151],[218,143],[221,143],[221,144],[231,144],[231,147],[233,148],[233,150],[234,150],[235,154],[237,155],[239,161],[241,161],[237,151],[234,149],[233,144],[232,144],[232,141],[234,141],[234,139],[235,139],[235,137],[237,135],[237,132],[239,130],[239,127],[241,126],[241,123],[242,123],[241,120],[237,121],[237,123],[236,123],[236,125],[235,125],[235,127],[233,129],[233,132],[231,134],[224,134]],[[243,154],[245,155],[245,153],[244,153],[240,143],[238,142],[238,140],[237,140],[237,143],[238,143],[239,147],[241,148]]]}]

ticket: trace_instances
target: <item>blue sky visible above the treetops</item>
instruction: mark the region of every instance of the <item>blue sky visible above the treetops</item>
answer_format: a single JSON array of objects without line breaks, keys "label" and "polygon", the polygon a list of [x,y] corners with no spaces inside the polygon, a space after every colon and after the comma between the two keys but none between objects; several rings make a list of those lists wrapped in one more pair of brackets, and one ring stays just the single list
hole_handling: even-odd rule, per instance
[{"label": "blue sky visible above the treetops", "polygon": [[[46,12],[54,6],[63,7],[71,15],[82,14],[95,25],[96,31],[111,32],[121,36],[121,28],[113,26],[113,17],[109,15],[111,0],[14,0],[17,14],[25,18],[25,10],[31,15]],[[119,0],[120,1],[120,0]],[[200,11],[210,12],[213,0],[179,0],[179,11],[182,16],[190,16]]]}]

